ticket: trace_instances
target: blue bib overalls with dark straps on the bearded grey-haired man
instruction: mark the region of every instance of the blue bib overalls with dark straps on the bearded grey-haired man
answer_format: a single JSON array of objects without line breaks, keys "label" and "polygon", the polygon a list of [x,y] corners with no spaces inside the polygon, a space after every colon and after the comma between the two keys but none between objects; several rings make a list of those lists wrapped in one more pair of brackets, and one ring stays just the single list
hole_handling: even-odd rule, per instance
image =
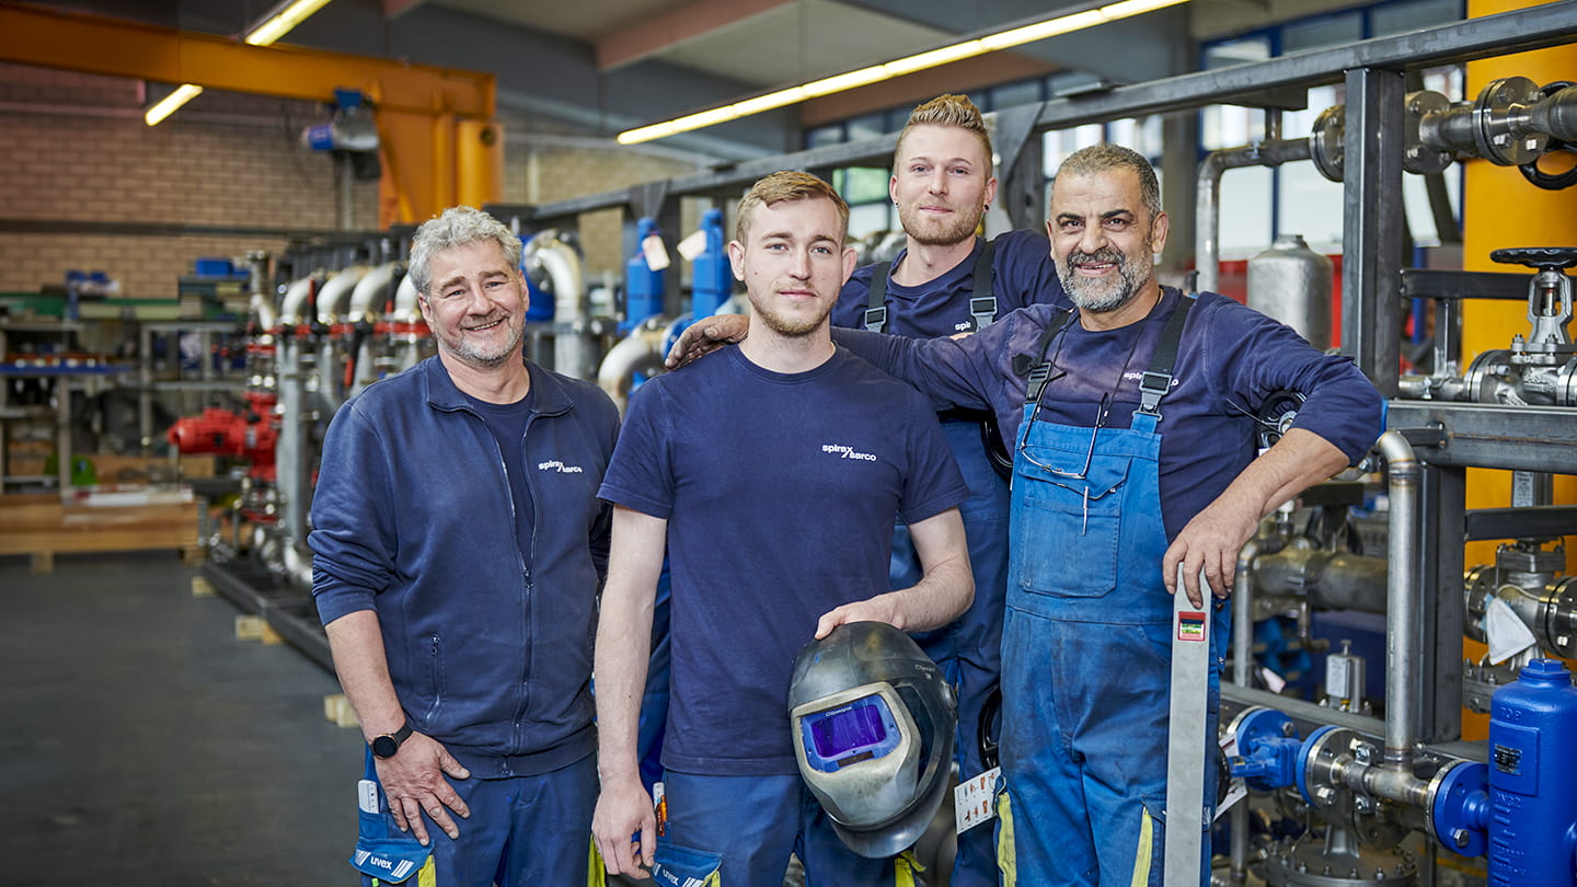
[{"label": "blue bib overalls with dark straps on the bearded grey-haired man", "polygon": [[[1009,885],[1161,884],[1172,598],[1161,581],[1156,429],[1191,306],[1180,305],[1161,335],[1126,429],[1036,418],[1052,376],[1047,346],[1071,316],[1041,336],[1014,456],[1003,628],[1009,800],[1000,855]],[[1213,620],[1224,625],[1225,611]],[[1213,712],[1221,636],[1211,636]],[[1211,737],[1213,728],[1214,713]]]}]

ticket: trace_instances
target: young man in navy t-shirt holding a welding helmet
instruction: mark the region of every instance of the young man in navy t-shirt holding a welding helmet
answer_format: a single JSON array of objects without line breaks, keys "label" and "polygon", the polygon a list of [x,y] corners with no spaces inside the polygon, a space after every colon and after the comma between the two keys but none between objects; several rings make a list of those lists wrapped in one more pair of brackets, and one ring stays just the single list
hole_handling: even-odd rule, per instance
[{"label": "young man in navy t-shirt holding a welding helmet", "polygon": [[[610,873],[776,887],[790,854],[817,884],[891,884],[855,855],[804,788],[788,729],[798,649],[834,625],[927,630],[973,593],[957,505],[968,496],[913,388],[834,347],[828,314],[853,270],[848,208],[820,178],[773,174],[740,204],[729,245],[751,338],[659,376],[631,401],[601,496],[615,505],[598,627]],[[888,590],[893,515],[924,567]],[[636,762],[651,603],[672,559],[672,704],[664,840]],[[632,840],[634,835],[634,840]]]}]

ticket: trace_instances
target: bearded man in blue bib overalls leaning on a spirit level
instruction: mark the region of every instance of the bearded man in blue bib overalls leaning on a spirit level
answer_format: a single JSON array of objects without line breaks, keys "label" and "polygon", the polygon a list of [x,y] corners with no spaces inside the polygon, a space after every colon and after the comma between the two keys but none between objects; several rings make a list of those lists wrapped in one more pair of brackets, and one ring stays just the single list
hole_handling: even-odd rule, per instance
[{"label": "bearded man in blue bib overalls leaning on a spirit level", "polygon": [[[1383,399],[1345,357],[1217,294],[1162,287],[1167,216],[1150,163],[1118,145],[1063,161],[1047,230],[1072,313],[1033,305],[965,339],[839,330],[855,354],[935,401],[990,409],[1016,442],[1001,765],[1008,884],[1161,884],[1170,623],[1232,589],[1260,518],[1356,462]],[[695,324],[691,346],[730,338]],[[1257,453],[1254,415],[1306,395]],[[1202,584],[1200,576],[1205,582]],[[1213,644],[1230,622],[1222,600]],[[1211,657],[1210,740],[1219,704]],[[1206,740],[1206,742],[1210,742]],[[1206,758],[1206,759],[1213,759]],[[1211,773],[1213,777],[1213,773]],[[1200,841],[1213,813],[1206,778]],[[1202,854],[1208,884],[1210,854]]]}]

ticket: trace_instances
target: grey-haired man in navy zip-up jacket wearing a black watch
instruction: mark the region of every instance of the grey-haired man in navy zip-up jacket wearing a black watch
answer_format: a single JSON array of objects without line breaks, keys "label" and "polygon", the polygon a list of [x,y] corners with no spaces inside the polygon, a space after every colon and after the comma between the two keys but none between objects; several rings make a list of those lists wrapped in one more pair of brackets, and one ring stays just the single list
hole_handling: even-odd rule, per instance
[{"label": "grey-haired man in navy zip-up jacket wearing a black watch", "polygon": [[585,884],[618,410],[524,360],[520,240],[492,216],[423,224],[410,276],[438,354],[339,409],[312,502],[312,593],[367,739],[350,862]]}]

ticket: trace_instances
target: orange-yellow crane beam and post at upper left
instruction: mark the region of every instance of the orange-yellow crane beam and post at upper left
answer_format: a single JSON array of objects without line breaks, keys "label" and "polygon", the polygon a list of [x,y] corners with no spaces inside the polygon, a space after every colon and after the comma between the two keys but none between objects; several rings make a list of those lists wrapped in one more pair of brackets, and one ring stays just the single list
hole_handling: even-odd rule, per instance
[{"label": "orange-yellow crane beam and post at upper left", "polygon": [[423,221],[462,200],[500,197],[503,144],[494,123],[492,74],[296,46],[248,46],[25,3],[0,3],[0,60],[304,101],[334,101],[336,88],[361,90],[378,122],[382,226]]}]

